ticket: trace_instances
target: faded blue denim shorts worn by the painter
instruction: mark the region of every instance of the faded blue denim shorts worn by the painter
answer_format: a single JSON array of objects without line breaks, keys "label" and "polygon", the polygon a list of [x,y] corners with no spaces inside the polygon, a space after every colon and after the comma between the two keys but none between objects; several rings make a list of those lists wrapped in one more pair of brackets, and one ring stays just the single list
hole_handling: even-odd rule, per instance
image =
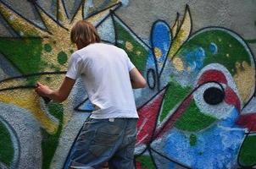
[{"label": "faded blue denim shorts worn by the painter", "polygon": [[137,118],[88,118],[71,152],[71,168],[133,169]]}]

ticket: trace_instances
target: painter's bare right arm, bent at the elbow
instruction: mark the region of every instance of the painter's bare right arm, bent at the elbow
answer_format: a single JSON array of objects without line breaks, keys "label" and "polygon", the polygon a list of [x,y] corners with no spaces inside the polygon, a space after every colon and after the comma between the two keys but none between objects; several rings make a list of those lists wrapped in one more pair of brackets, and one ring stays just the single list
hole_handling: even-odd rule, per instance
[{"label": "painter's bare right arm, bent at the elbow", "polygon": [[137,68],[132,68],[129,74],[130,74],[132,89],[146,87],[147,82]]}]

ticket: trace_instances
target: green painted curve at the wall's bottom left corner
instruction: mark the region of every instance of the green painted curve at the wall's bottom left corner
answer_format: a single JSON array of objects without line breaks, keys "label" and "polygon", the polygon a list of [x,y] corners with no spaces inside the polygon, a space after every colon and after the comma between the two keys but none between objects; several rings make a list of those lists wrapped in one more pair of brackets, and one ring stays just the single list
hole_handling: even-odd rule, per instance
[{"label": "green painted curve at the wall's bottom left corner", "polygon": [[14,147],[8,129],[0,122],[0,161],[7,166],[11,165],[14,159]]}]

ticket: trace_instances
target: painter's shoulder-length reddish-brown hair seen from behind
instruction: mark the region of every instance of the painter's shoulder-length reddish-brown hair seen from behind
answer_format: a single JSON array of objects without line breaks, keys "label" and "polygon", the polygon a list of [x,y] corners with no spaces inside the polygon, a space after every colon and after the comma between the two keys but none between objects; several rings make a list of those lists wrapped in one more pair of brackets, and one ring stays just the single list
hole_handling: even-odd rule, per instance
[{"label": "painter's shoulder-length reddish-brown hair seen from behind", "polygon": [[101,41],[96,28],[85,20],[80,20],[74,25],[70,33],[70,40],[82,47]]}]

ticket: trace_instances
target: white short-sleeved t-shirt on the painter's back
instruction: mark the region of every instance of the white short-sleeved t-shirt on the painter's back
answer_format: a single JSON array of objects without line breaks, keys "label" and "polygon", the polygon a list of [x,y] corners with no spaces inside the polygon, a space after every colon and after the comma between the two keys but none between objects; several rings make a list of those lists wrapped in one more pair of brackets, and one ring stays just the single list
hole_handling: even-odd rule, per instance
[{"label": "white short-sleeved t-shirt on the painter's back", "polygon": [[81,76],[89,100],[97,107],[92,118],[137,118],[130,74],[135,66],[117,46],[94,43],[71,55],[67,77]]}]

